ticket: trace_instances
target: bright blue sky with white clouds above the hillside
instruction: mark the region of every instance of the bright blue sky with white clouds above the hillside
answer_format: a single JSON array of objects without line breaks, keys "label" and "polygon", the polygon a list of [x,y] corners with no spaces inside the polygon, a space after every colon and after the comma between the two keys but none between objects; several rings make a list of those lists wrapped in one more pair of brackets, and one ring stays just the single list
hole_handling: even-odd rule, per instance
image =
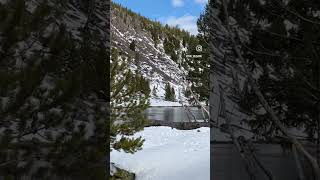
[{"label": "bright blue sky with white clouds above the hillside", "polygon": [[113,0],[134,12],[197,34],[197,19],[208,0]]}]

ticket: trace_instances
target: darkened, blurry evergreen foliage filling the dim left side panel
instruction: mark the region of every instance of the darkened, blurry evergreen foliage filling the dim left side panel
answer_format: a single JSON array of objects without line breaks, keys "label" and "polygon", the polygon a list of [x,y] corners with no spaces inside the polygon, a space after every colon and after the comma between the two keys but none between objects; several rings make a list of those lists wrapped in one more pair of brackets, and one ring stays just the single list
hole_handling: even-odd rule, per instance
[{"label": "darkened, blurry evergreen foliage filling the dim left side panel", "polygon": [[[89,14],[109,4],[88,4],[0,3],[0,179],[107,178],[108,34]],[[87,24],[62,23],[70,7]]]}]

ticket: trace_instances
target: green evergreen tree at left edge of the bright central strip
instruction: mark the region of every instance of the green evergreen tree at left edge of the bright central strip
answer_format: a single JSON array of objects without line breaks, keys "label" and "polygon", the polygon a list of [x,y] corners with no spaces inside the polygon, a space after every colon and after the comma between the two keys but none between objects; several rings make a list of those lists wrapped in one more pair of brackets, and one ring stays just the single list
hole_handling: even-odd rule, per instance
[{"label": "green evergreen tree at left edge of the bright central strip", "polygon": [[[111,134],[110,148],[134,153],[141,149],[143,139],[128,138],[145,126],[144,111],[149,106],[149,82],[133,74],[119,56],[111,52]],[[117,136],[120,138],[117,139]]]}]

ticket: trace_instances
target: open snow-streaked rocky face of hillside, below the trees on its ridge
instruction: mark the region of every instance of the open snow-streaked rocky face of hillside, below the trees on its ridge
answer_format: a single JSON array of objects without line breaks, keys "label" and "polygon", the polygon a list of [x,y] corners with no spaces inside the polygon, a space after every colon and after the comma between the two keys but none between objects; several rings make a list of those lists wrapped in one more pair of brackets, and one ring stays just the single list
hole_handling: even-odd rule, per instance
[{"label": "open snow-streaked rocky face of hillside, below the trees on its ridge", "polygon": [[[155,89],[156,95],[152,95],[154,100],[151,101],[151,106],[157,106],[159,101],[164,100],[167,83],[174,88],[176,100],[186,103],[183,91],[186,89],[187,71],[165,53],[164,38],[160,38],[159,42],[155,43],[151,32],[141,26],[138,18],[120,17],[119,9],[112,9],[111,45],[124,53],[123,56],[130,59],[130,68],[133,71],[138,69],[149,80],[150,89]],[[129,47],[133,41],[135,42],[135,51]],[[180,46],[179,52],[177,52],[177,54],[180,54],[178,62],[182,59],[182,52],[187,51],[187,48],[183,47],[182,41]],[[138,52],[139,57],[137,57],[136,52]],[[137,58],[139,58],[138,65],[134,63]],[[158,103],[153,104],[153,102]],[[163,103],[165,102],[163,101]],[[178,102],[174,104],[179,105]]]}]

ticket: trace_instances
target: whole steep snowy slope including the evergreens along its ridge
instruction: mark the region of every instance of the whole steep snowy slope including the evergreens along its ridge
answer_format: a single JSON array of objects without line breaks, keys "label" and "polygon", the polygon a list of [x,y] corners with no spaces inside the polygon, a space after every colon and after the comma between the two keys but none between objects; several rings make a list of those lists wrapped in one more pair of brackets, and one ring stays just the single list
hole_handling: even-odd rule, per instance
[{"label": "whole steep snowy slope including the evergreens along its ridge", "polygon": [[[176,100],[187,103],[186,78],[192,68],[188,64],[190,60],[187,60],[185,55],[194,47],[186,41],[196,42],[196,37],[112,4],[111,39],[112,47],[123,53],[128,59],[130,68],[138,70],[150,81],[150,89],[155,92],[152,94],[151,105],[163,105],[161,102],[164,100],[167,83],[174,88]],[[168,48],[172,45],[171,42],[173,46]],[[179,105],[179,103],[164,103]]]}]

